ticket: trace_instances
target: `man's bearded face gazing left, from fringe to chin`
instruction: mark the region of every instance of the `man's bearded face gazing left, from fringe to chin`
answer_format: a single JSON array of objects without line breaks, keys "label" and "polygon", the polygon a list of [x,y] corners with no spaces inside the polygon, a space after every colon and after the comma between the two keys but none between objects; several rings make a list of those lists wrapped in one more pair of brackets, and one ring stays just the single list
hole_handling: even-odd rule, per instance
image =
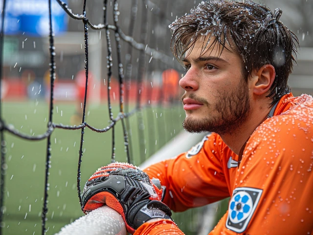
[{"label": "man's bearded face gazing left, from fringe to chin", "polygon": [[230,47],[220,53],[216,44],[201,55],[202,47],[203,39],[199,39],[183,59],[188,70],[179,81],[185,90],[183,126],[189,132],[232,134],[246,121],[250,111],[241,59]]}]

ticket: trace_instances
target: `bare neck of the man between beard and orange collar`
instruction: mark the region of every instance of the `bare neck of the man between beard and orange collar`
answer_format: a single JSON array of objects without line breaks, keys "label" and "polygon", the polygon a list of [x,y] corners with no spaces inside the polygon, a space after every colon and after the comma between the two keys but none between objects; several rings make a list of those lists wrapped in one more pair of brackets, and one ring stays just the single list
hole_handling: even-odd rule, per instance
[{"label": "bare neck of the man between beard and orange collar", "polygon": [[[261,106],[262,107],[262,106]],[[266,107],[266,108],[265,108]],[[231,134],[220,135],[224,143],[237,155],[242,148],[242,146],[249,139],[253,131],[268,117],[268,113],[272,106],[263,106],[253,109],[246,122],[244,122],[237,130],[233,131]]]}]

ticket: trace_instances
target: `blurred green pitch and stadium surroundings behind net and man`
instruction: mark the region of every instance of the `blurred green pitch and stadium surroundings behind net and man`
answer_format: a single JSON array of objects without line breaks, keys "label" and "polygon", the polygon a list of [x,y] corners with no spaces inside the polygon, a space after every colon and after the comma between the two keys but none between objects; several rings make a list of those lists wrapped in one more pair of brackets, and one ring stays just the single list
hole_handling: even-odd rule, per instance
[{"label": "blurred green pitch and stadium surroundings behind net and man", "polygon": [[[139,165],[166,145],[185,151],[199,140],[192,135],[175,143],[182,130],[184,112],[179,102],[183,94],[178,81],[183,74],[170,51],[168,25],[189,12],[200,0],[118,0],[118,24],[125,35],[159,52],[146,53],[120,40],[124,67],[125,111],[138,105],[147,106],[129,118],[132,163]],[[134,3],[136,3],[134,7]],[[256,1],[258,2],[258,1]],[[289,84],[294,95],[313,94],[313,1],[264,0],[272,11],[283,10],[280,20],[293,31],[300,42]],[[83,14],[83,0],[66,0],[74,14]],[[0,6],[3,0],[0,0]],[[113,1],[108,0],[108,23],[114,24]],[[103,2],[87,1],[86,15],[92,24],[103,24]],[[135,17],[134,30],[130,26]],[[85,91],[84,24],[66,14],[52,0],[52,24],[55,34],[56,81],[54,88],[54,123],[79,125]],[[49,18],[47,0],[7,1],[4,22],[4,49],[1,83],[2,118],[28,135],[46,131],[49,113]],[[112,78],[107,76],[107,41],[105,30],[89,28],[89,86],[86,121],[99,129],[110,123],[108,91],[113,116],[120,111],[119,82],[114,31],[112,44]],[[128,70],[127,70],[128,69]],[[131,71],[128,75],[126,71]],[[110,88],[108,88],[110,86]],[[139,89],[138,89],[139,88]],[[125,97],[126,98],[126,97]],[[82,184],[100,166],[109,164],[112,156],[112,130],[95,133],[86,129],[83,145]],[[122,126],[114,130],[116,160],[126,162]],[[52,158],[49,181],[47,235],[83,215],[76,189],[80,130],[56,129],[51,135]],[[200,138],[201,139],[201,138]],[[5,133],[5,207],[3,234],[40,234],[44,196],[46,141],[26,141]],[[174,157],[170,152],[165,157]],[[161,156],[164,157],[164,156]],[[211,207],[174,215],[185,234],[207,234],[227,209],[227,200]]]}]

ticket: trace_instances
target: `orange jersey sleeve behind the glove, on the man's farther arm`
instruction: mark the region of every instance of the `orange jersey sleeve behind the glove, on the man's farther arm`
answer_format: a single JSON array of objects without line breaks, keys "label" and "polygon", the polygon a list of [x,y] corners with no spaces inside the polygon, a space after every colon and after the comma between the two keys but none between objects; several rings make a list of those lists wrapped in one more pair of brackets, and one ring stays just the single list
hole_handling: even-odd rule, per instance
[{"label": "orange jersey sleeve behind the glove, on the man's farther arm", "polygon": [[166,186],[163,202],[171,210],[184,211],[229,197],[221,164],[223,144],[212,134],[188,152],[144,169]]}]

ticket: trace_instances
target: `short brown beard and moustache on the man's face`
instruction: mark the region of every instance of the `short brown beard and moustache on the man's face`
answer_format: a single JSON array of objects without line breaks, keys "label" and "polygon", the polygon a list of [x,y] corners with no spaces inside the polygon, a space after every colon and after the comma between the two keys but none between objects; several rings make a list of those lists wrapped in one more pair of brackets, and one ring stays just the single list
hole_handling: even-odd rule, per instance
[{"label": "short brown beard and moustache on the man's face", "polygon": [[[211,110],[215,110],[217,114],[208,115],[202,119],[196,119],[188,116],[184,119],[183,128],[190,133],[215,132],[219,135],[233,134],[247,120],[250,112],[250,102],[247,83],[242,78],[240,84],[229,92],[218,92],[215,104],[209,104],[201,97],[194,94],[188,97],[207,105]],[[182,96],[182,99],[186,95]]]}]

